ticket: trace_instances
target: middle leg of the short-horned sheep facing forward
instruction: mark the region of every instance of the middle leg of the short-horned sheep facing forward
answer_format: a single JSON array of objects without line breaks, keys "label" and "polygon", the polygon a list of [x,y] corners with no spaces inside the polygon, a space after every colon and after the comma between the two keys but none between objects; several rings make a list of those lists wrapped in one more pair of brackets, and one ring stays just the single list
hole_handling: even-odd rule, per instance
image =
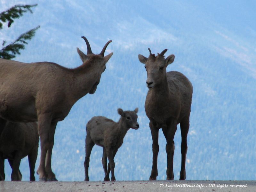
[{"label": "middle leg of the short-horned sheep facing forward", "polygon": [[177,130],[176,121],[173,120],[167,127],[162,127],[164,136],[166,139],[166,153],[167,153],[167,169],[166,169],[166,180],[173,180],[173,156],[174,156],[174,135]]}]

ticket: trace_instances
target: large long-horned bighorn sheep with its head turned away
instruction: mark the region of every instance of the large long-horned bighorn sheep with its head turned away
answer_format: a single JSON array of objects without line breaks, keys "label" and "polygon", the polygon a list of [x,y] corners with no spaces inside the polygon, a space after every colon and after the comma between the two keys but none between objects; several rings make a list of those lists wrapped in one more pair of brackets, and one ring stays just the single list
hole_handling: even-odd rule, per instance
[{"label": "large long-horned bighorn sheep with its head turned away", "polygon": [[88,40],[87,55],[77,48],[83,64],[69,69],[56,63],[21,63],[0,59],[0,117],[13,122],[38,122],[41,141],[39,180],[56,180],[51,168],[54,133],[74,103],[93,94],[113,53],[93,54]]}]

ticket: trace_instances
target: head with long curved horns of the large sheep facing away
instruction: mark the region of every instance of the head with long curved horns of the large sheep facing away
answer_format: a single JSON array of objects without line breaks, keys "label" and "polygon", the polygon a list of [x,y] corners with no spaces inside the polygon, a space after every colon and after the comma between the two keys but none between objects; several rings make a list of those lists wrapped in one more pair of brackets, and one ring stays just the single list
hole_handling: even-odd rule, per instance
[{"label": "head with long curved horns of the large sheep facing away", "polygon": [[[81,60],[83,61],[83,65],[88,65],[88,70],[90,70],[91,74],[95,77],[95,82],[92,83],[93,86],[89,91],[90,94],[93,94],[97,89],[97,85],[100,83],[101,74],[106,69],[106,63],[113,55],[113,52],[111,52],[108,55],[104,56],[108,44],[112,41],[110,40],[105,44],[100,54],[94,54],[92,53],[91,46],[88,40],[84,36],[82,36],[82,38],[84,39],[87,46],[87,55],[85,55],[81,50],[79,50],[79,48],[76,48],[76,50]],[[85,63],[86,61],[88,62]]]}]

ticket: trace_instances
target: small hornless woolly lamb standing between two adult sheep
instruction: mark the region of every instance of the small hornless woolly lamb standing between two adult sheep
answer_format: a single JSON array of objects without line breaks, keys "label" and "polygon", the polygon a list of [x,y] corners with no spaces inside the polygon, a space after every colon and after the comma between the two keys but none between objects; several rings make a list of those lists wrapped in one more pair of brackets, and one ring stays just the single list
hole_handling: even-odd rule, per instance
[{"label": "small hornless woolly lamb standing between two adult sheep", "polygon": [[[117,112],[121,115],[118,122],[114,122],[103,116],[92,117],[86,125],[86,140],[85,140],[85,181],[89,181],[88,168],[90,162],[90,154],[94,144],[103,147],[102,165],[105,172],[104,181],[109,181],[109,173],[111,170],[111,181],[115,181],[115,162],[114,157],[118,148],[121,147],[124,141],[124,136],[129,128],[138,129],[139,124],[137,122],[138,108],[134,111],[123,111],[118,108]],[[108,157],[108,169],[107,169],[107,157]]]}]

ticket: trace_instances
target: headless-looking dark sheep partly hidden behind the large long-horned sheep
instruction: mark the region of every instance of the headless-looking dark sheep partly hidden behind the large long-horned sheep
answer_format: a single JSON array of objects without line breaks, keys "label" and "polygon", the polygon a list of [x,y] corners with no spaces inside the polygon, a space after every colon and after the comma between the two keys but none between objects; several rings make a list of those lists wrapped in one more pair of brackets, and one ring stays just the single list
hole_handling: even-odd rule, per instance
[{"label": "headless-looking dark sheep partly hidden behind the large long-horned sheep", "polygon": [[[0,118],[4,122],[4,119]],[[5,121],[0,127],[0,180],[5,179],[4,159],[8,159],[12,167],[12,181],[21,180],[20,160],[28,156],[30,181],[35,181],[35,164],[39,135],[36,122],[12,123]]]}]

